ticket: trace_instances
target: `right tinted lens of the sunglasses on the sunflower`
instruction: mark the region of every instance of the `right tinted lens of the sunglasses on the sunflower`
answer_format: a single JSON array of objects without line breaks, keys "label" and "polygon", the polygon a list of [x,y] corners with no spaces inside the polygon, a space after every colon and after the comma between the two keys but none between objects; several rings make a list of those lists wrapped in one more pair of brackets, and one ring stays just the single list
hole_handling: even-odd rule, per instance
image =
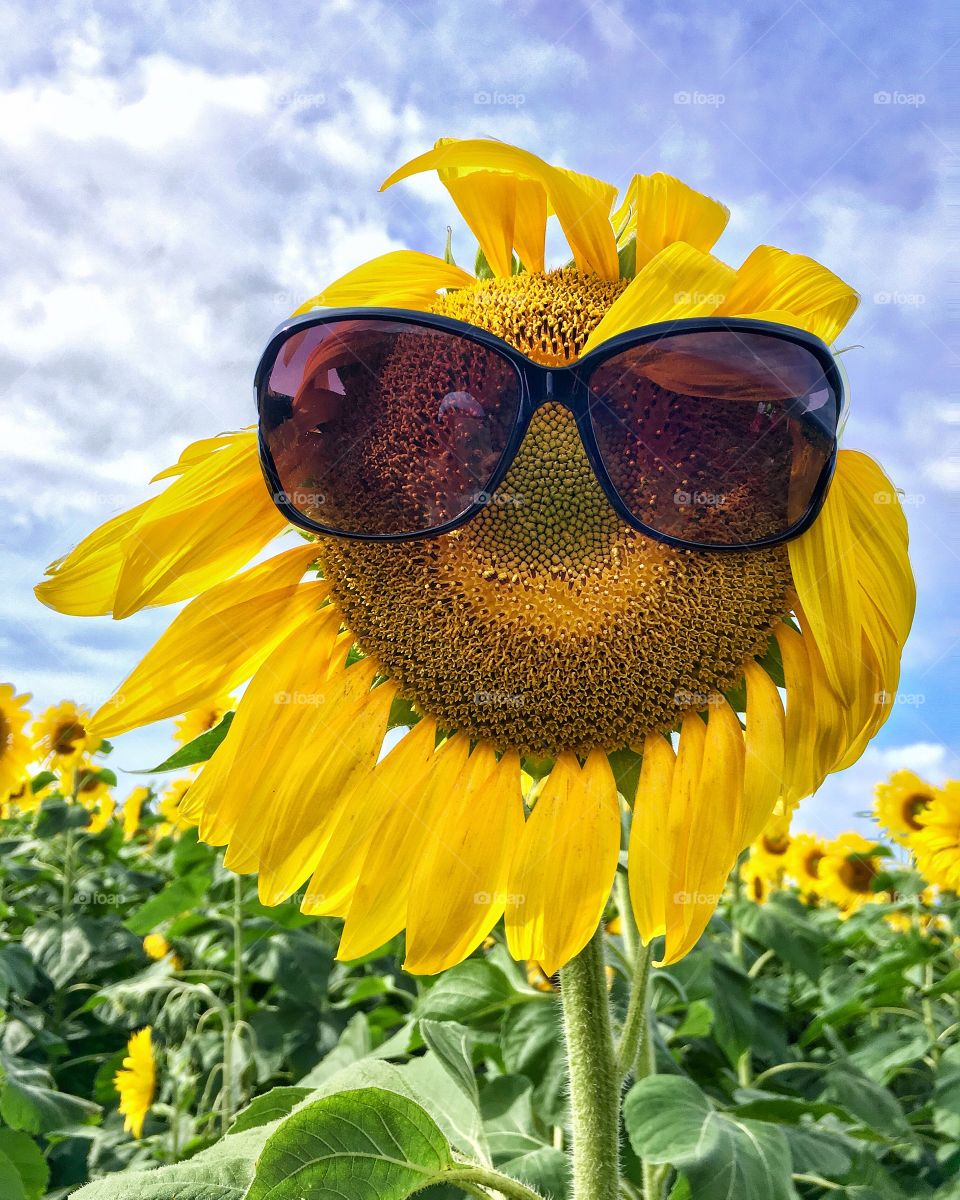
[{"label": "right tinted lens of the sunglasses on the sunflower", "polygon": [[589,378],[600,456],[626,508],[712,546],[778,536],[810,510],[839,397],[806,347],[775,335],[674,334]]}]

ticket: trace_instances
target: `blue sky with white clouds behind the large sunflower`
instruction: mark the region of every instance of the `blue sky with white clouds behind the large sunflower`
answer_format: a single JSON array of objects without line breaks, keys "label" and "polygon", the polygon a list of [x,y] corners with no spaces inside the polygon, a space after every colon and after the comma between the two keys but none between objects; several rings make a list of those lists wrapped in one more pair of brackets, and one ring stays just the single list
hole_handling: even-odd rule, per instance
[{"label": "blue sky with white clouds behind the large sunflower", "polygon": [[[798,823],[850,824],[899,766],[958,774],[958,52],[937,8],[6,5],[0,678],[36,707],[113,690],[172,611],[67,618],[32,583],[185,442],[251,420],[262,343],[306,296],[384,251],[442,251],[446,193],[378,194],[394,167],[493,136],[620,186],[677,174],[731,208],[727,262],[772,242],[860,293],[846,444],[904,491],[919,604],[890,720]],[[472,262],[462,229],[454,250]],[[168,746],[139,731],[115,761]]]}]

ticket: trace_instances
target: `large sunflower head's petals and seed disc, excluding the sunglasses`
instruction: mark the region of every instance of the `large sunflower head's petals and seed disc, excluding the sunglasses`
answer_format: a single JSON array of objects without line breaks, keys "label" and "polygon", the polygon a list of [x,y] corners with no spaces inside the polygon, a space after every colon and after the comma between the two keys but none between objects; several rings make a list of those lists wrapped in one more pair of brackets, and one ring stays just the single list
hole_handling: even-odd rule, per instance
[{"label": "large sunflower head's petals and seed disc, excluding the sunglasses", "polygon": [[[724,263],[710,251],[727,210],[670,175],[635,175],[614,206],[602,180],[442,139],[384,186],[433,169],[480,242],[478,276],[395,251],[299,311],[445,314],[556,365],[703,314],[829,343],[857,306],[802,254],[760,246]],[[544,258],[550,215],[572,252],[558,269]],[[432,973],[503,918],[514,958],[552,974],[611,892],[625,754],[631,769],[642,756],[632,905],[644,942],[665,935],[676,961],[774,805],[856,761],[896,690],[914,602],[906,523],[856,450],[806,533],[726,553],[628,527],[571,414],[550,404],[502,485],[532,503],[490,503],[430,539],[298,539],[248,566],[284,530],[251,431],[187,446],[157,480],[52,564],[37,595],[114,617],[194,598],[94,728],[120,733],[250,680],[185,811],[228,868],[258,872],[264,904],[306,884],[305,912],[343,918],[341,958],[406,929],[407,970]],[[382,755],[388,728],[403,733]],[[524,769],[538,780],[527,802]]]}]

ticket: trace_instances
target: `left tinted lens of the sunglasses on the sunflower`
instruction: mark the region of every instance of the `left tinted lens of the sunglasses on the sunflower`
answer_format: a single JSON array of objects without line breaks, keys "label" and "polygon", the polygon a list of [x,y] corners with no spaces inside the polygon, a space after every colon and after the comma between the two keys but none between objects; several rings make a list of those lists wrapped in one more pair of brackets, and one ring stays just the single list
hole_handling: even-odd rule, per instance
[{"label": "left tinted lens of the sunglasses on the sunflower", "polygon": [[260,428],[288,503],[341,533],[422,533],[487,488],[520,408],[496,350],[445,330],[358,318],[280,348]]}]

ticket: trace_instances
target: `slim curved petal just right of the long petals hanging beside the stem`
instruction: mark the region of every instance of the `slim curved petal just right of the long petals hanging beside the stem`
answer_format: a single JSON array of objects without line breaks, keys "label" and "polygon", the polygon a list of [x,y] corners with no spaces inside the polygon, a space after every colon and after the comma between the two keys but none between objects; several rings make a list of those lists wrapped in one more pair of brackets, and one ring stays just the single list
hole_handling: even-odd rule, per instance
[{"label": "slim curved petal just right of the long petals hanging beside the stem", "polygon": [[739,850],[755,841],[784,787],[786,718],[776,684],[754,659],[745,666],[746,762]]}]

